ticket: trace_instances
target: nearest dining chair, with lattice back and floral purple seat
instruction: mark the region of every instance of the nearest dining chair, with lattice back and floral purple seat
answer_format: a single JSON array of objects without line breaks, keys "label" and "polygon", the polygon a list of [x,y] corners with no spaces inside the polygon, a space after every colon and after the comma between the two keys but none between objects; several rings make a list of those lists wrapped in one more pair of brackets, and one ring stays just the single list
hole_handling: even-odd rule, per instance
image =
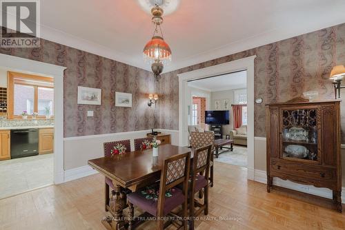
[{"label": "nearest dining chair, with lattice back and floral purple seat", "polygon": [[[182,205],[182,224],[180,226],[187,229],[188,218],[188,178],[190,170],[190,152],[171,156],[164,160],[161,169],[161,180],[159,184],[146,187],[132,194],[128,194],[128,229],[135,228],[133,224],[134,207],[150,213],[157,217],[157,229],[164,229],[164,217],[174,216],[171,211]],[[182,189],[177,186],[183,185]]]}]

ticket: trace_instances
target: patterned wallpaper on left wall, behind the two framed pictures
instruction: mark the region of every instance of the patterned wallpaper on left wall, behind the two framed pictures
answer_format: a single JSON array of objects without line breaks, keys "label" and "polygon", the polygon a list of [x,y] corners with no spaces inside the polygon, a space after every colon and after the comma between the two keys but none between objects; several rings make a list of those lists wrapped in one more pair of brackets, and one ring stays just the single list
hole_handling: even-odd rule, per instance
[{"label": "patterned wallpaper on left wall, behind the two framed pictures", "polygon": [[[67,67],[63,79],[65,137],[155,127],[155,110],[147,105],[148,93],[155,92],[155,79],[146,70],[44,39],[41,48],[0,48],[0,53]],[[78,85],[101,88],[101,105],[77,105]],[[115,91],[131,93],[132,107],[115,107]],[[94,111],[94,117],[86,116],[88,110]]]}]

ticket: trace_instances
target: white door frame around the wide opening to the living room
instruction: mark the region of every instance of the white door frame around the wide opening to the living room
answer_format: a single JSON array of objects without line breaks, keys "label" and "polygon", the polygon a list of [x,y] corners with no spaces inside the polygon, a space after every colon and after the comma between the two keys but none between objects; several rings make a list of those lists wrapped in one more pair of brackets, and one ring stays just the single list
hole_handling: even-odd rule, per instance
[{"label": "white door frame around the wide opening to the living room", "polygon": [[239,70],[247,70],[247,149],[248,149],[248,180],[254,180],[254,56],[248,56],[244,59],[213,65],[199,70],[177,74],[179,77],[179,145],[188,145],[188,118],[186,116],[190,100],[190,90],[188,90],[188,81],[202,79],[217,74],[226,74]]}]

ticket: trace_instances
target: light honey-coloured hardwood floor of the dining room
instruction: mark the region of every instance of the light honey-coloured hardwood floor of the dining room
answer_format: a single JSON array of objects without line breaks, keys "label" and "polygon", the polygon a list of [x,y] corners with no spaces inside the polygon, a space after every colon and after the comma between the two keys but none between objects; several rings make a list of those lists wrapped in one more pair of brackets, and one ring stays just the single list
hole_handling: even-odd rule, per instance
[{"label": "light honey-coloured hardwood floor of the dining room", "polygon": [[[345,229],[345,214],[329,209],[331,202],[282,189],[268,194],[266,185],[247,181],[246,174],[242,167],[215,163],[207,218],[239,220],[198,220],[196,229]],[[103,176],[96,174],[0,200],[0,229],[104,230],[103,189]],[[139,229],[155,229],[155,223]]]}]

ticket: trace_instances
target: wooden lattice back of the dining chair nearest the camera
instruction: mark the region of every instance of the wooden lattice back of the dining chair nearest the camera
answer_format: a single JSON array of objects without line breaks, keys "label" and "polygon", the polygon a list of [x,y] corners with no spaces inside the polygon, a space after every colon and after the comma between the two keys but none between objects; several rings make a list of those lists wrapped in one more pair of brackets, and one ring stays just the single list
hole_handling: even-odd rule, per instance
[{"label": "wooden lattice back of the dining chair nearest the camera", "polygon": [[158,216],[164,216],[164,202],[166,191],[177,185],[183,184],[185,202],[188,200],[188,179],[190,173],[190,152],[179,154],[164,160],[164,167],[161,169],[161,180],[158,197]]}]

